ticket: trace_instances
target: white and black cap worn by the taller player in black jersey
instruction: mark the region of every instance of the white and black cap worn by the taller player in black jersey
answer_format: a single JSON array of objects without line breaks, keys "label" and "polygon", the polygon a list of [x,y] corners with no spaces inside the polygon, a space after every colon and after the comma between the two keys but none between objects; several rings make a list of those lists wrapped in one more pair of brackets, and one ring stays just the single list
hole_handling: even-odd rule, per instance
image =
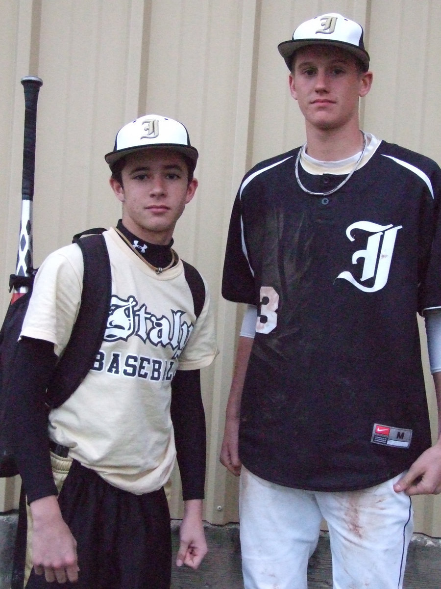
[{"label": "white and black cap worn by the taller player in black jersey", "polygon": [[332,43],[349,51],[358,57],[365,71],[369,70],[369,54],[363,43],[363,28],[357,22],[350,21],[349,18],[336,12],[329,12],[329,14],[302,22],[293,32],[292,39],[280,43],[278,49],[290,68],[292,57],[298,49],[307,45],[326,43]]}]

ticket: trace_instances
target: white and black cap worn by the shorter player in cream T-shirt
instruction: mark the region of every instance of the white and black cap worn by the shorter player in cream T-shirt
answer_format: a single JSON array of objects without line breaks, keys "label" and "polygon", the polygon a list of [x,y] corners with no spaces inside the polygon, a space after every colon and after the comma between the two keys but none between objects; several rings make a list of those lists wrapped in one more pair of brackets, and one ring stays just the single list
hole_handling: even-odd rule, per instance
[{"label": "white and black cap worn by the shorter player in cream T-shirt", "polygon": [[124,125],[116,133],[113,151],[104,157],[112,168],[115,162],[125,155],[153,147],[186,155],[191,160],[193,168],[198,161],[198,150],[190,144],[190,137],[184,125],[158,114],[146,114]]}]

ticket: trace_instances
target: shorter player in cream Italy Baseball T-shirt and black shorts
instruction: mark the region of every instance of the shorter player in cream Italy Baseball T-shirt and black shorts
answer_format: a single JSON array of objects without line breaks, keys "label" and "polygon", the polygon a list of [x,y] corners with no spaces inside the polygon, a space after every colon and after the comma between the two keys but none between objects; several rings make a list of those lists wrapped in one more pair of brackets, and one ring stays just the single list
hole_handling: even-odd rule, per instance
[{"label": "shorter player in cream Italy Baseball T-shirt and black shorts", "polygon": [[198,186],[198,152],[181,123],[152,114],[125,125],[105,158],[122,204],[122,219],[104,233],[112,274],[107,328],[86,378],[49,415],[44,392],[81,302],[76,244],[40,267],[19,343],[14,443],[32,532],[28,588],[58,581],[168,589],[163,485],[176,452],[185,502],[177,564],[197,568],[207,550],[199,370],[217,353],[214,322],[205,282],[196,313],[194,273],[172,249],[175,224]]}]

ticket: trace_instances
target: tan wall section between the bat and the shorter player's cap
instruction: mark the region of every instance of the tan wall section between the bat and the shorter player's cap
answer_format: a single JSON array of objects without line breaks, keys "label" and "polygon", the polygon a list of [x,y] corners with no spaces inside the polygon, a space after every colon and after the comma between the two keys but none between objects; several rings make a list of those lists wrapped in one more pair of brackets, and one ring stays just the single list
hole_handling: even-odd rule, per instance
[{"label": "tan wall section between the bat and the shorter player's cap", "polygon": [[126,101],[130,110],[137,106],[139,82],[133,94],[127,91],[136,80],[133,64],[139,77],[136,9],[142,23],[141,2],[43,2],[39,120],[45,125],[38,135],[35,232],[47,229],[48,219],[57,224],[44,243],[35,243],[39,259],[77,231],[118,217],[103,155],[125,122]]}]

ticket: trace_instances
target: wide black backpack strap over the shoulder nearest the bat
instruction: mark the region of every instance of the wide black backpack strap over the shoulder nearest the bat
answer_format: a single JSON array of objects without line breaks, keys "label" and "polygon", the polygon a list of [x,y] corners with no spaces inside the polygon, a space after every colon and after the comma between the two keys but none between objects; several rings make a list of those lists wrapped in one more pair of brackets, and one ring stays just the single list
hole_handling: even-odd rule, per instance
[{"label": "wide black backpack strap over the shoulder nearest the bat", "polygon": [[90,231],[95,233],[74,237],[84,260],[81,306],[48,389],[52,407],[64,403],[81,384],[92,368],[106,330],[112,296],[111,266],[104,236],[96,234],[96,229]]}]

